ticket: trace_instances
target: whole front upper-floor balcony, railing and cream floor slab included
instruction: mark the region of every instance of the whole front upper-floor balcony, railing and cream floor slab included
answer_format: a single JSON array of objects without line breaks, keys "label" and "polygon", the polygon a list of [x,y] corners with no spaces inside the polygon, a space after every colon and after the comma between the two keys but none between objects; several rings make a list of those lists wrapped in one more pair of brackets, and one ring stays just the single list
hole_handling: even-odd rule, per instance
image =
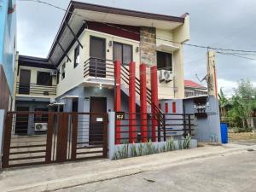
[{"label": "whole front upper-floor balcony, railing and cream floor slab included", "polygon": [[113,85],[114,66],[112,60],[90,57],[84,62],[84,83]]}]

